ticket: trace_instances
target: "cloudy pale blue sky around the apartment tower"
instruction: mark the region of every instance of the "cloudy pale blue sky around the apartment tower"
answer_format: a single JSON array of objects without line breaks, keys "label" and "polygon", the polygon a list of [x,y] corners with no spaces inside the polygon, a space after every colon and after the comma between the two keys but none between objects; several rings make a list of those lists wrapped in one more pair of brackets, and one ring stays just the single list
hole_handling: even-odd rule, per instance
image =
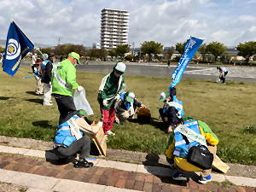
[{"label": "cloudy pale blue sky around the apartment tower", "polygon": [[100,43],[102,9],[129,11],[128,44],[165,47],[190,36],[226,46],[256,41],[256,0],[0,0],[0,39],[11,18],[35,44]]}]

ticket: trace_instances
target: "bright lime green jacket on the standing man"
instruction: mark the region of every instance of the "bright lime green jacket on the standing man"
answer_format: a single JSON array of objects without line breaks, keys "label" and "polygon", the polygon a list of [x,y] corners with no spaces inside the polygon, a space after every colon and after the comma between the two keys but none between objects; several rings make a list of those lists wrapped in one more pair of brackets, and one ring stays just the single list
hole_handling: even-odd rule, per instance
[{"label": "bright lime green jacket on the standing man", "polygon": [[76,68],[69,60],[64,60],[53,68],[52,78],[52,93],[63,96],[73,96],[72,90],[78,88],[76,82]]}]

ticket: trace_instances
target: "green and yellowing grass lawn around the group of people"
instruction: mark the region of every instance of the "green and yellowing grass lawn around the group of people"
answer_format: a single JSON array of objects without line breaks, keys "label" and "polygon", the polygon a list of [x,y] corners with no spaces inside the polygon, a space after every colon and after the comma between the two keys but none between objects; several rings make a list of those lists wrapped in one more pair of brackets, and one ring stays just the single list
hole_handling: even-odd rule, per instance
[{"label": "green and yellowing grass lawn around the group of people", "polygon": [[[43,106],[42,96],[35,96],[36,81],[30,67],[20,67],[12,78],[0,72],[0,135],[27,137],[53,141],[58,125],[59,111]],[[77,82],[86,90],[94,115],[99,120],[96,101],[99,85],[106,74],[77,73]],[[117,133],[109,137],[108,148],[164,154],[168,134],[162,129],[158,109],[160,92],[168,90],[171,79],[126,76],[126,90],[133,90],[137,99],[151,111],[148,125],[137,122],[114,124]],[[182,79],[177,84],[177,99],[183,101],[184,115],[201,119],[218,136],[218,156],[225,162],[256,165],[256,84],[230,82],[216,84],[214,80]]]}]

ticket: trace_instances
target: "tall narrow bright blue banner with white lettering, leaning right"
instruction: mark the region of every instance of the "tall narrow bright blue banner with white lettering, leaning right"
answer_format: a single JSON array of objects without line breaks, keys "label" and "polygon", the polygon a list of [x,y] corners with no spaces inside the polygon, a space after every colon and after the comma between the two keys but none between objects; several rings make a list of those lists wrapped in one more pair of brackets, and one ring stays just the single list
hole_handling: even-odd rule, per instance
[{"label": "tall narrow bright blue banner with white lettering, leaning right", "polygon": [[176,84],[179,83],[180,79],[183,76],[183,73],[186,67],[189,64],[189,61],[195,55],[196,50],[200,47],[204,40],[201,38],[190,37],[185,45],[185,52],[177,63],[176,69],[172,73],[172,84],[169,87],[169,90],[172,89]]}]

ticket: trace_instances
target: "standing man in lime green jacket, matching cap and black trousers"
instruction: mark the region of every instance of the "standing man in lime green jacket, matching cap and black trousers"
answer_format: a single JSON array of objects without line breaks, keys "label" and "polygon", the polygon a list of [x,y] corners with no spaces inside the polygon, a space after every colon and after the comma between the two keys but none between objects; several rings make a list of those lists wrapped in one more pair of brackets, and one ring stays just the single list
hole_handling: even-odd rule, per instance
[{"label": "standing man in lime green jacket, matching cap and black trousers", "polygon": [[76,111],[73,102],[73,91],[77,89],[79,92],[84,88],[76,82],[76,68],[74,67],[79,62],[80,56],[75,52],[68,54],[67,59],[59,62],[53,68],[52,72],[52,96],[55,97],[58,109],[60,112],[59,125],[67,117],[68,113]]}]

